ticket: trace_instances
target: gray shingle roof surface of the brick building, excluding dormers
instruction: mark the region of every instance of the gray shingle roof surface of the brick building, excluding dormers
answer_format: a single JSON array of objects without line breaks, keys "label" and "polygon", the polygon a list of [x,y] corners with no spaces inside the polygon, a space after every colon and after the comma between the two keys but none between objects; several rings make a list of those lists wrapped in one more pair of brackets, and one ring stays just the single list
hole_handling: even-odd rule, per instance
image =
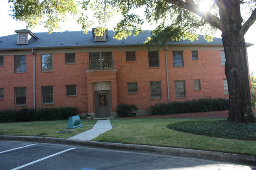
[{"label": "gray shingle roof surface of the brick building, excluding dormers", "polygon": [[[25,30],[25,29],[24,29]],[[113,37],[114,31],[108,31],[106,42],[95,42],[92,32],[83,34],[83,31],[65,31],[57,33],[34,33],[38,38],[31,44],[17,45],[17,34],[0,37],[0,51],[11,49],[45,49],[45,48],[73,48],[73,47],[95,47],[95,46],[137,46],[143,44],[150,33],[143,33],[140,36],[130,36],[126,39],[116,40]],[[213,42],[207,42],[199,35],[198,40],[191,42],[190,40],[172,41],[168,44],[205,44],[205,45],[222,45],[221,38],[214,38]]]}]

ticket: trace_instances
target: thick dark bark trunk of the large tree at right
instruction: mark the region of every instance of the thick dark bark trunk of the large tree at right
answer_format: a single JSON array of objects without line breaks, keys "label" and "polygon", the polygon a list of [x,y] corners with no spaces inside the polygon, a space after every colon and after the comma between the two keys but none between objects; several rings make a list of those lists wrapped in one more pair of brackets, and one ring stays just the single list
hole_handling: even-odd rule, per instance
[{"label": "thick dark bark trunk of the large tree at right", "polygon": [[227,121],[256,122],[250,94],[245,40],[229,31],[222,33],[222,41],[230,101]]}]

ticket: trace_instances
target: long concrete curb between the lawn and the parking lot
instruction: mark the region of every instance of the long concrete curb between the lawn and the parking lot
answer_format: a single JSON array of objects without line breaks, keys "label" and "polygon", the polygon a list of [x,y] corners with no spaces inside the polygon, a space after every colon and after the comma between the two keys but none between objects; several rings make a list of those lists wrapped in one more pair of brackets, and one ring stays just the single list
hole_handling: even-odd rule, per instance
[{"label": "long concrete curb between the lawn and the parking lot", "polygon": [[181,157],[208,159],[208,160],[214,160],[214,161],[241,163],[241,164],[254,165],[254,166],[256,165],[255,156],[228,154],[228,153],[222,153],[222,152],[210,152],[210,151],[203,151],[203,150],[183,149],[183,148],[169,148],[169,147],[149,146],[149,145],[139,145],[139,144],[81,141],[76,139],[63,139],[63,138],[54,138],[54,137],[33,137],[33,136],[0,135],[0,140],[65,144],[65,145],[72,145],[72,146],[90,146],[95,148],[140,151],[140,152],[149,152],[149,153],[161,154],[161,155],[174,155],[174,156],[181,156]]}]

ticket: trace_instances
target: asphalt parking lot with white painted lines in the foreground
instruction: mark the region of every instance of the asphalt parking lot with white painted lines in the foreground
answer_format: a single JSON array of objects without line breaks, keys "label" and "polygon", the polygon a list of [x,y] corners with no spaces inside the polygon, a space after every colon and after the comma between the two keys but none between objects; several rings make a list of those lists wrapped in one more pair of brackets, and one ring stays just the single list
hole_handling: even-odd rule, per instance
[{"label": "asphalt parking lot with white painted lines in the foreground", "polygon": [[256,170],[217,161],[139,152],[0,141],[0,170]]}]

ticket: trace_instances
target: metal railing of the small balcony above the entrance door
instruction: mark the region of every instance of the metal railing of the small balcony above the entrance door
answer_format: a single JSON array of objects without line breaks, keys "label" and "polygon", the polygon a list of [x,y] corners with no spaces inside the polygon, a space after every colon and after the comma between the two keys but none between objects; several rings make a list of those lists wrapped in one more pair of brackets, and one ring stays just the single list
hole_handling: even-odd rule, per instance
[{"label": "metal railing of the small balcony above the entrance door", "polygon": [[115,69],[115,60],[89,60],[87,69]]}]

